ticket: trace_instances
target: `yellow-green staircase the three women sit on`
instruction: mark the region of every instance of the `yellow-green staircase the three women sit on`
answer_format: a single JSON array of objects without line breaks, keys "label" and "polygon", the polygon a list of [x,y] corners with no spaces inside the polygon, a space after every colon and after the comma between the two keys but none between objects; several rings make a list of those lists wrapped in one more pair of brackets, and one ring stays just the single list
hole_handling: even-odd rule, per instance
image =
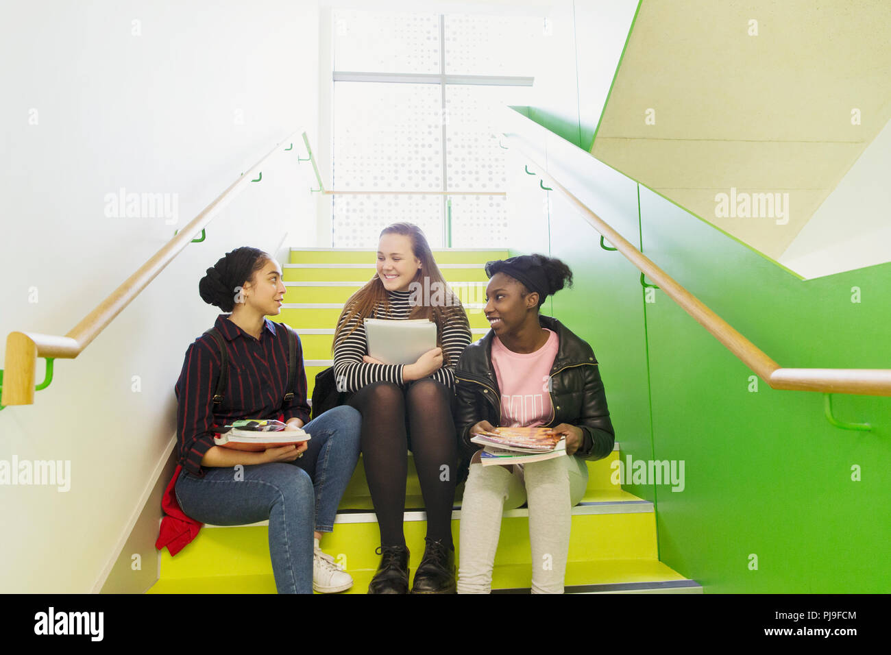
[{"label": "yellow-green staircase the three women sit on", "polygon": [[[488,331],[480,311],[487,282],[483,264],[509,257],[505,250],[434,250],[446,281],[462,299],[473,338]],[[343,303],[375,274],[370,250],[291,250],[282,267],[288,291],[282,313],[274,319],[297,330],[312,396],[315,374],[331,365],[333,326]],[[702,587],[658,561],[656,515],[653,504],[622,490],[610,481],[610,463],[619,444],[598,462],[588,463],[588,487],[583,501],[572,510],[572,532],[566,571],[566,592],[702,593]],[[405,496],[405,542],[411,551],[412,574],[424,551],[426,515],[421,487],[409,454]],[[455,558],[463,485],[455,495],[452,514]],[[149,594],[274,594],[269,558],[267,521],[238,527],[205,526],[176,557],[161,552],[159,581]],[[377,520],[365,482],[360,457],[356,472],[339,506],[334,532],[323,537],[322,548],[354,578],[347,594],[364,594],[378,566],[374,553],[380,544]],[[525,508],[504,512],[495,557],[493,593],[528,592],[532,576],[528,514]]]}]

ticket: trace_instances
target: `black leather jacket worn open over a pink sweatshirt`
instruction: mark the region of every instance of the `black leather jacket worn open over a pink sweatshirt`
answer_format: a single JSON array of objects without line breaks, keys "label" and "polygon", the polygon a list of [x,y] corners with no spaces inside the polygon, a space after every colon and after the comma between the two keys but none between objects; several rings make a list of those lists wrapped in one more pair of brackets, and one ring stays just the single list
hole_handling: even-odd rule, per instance
[{"label": "black leather jacket worn open over a pink sweatshirt", "polygon": [[[549,393],[554,418],[548,425],[569,423],[578,426],[584,434],[584,445],[575,456],[587,460],[602,459],[612,452],[616,431],[609,420],[607,397],[593,350],[556,318],[539,315],[538,322],[557,332],[560,340],[551,369],[552,390]],[[464,348],[455,369],[455,428],[464,466],[470,455],[479,449],[477,444],[470,442],[470,428],[484,419],[492,425],[501,425],[501,393],[492,369],[494,334],[490,330],[485,337]]]}]

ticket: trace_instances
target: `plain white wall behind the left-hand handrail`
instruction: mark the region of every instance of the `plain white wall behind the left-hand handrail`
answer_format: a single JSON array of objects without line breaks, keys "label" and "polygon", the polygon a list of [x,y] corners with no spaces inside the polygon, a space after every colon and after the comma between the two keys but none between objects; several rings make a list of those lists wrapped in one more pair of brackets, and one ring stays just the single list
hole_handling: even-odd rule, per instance
[{"label": "plain white wall behind the left-hand handrail", "polygon": [[[0,336],[68,332],[274,143],[317,132],[315,0],[57,0],[2,11]],[[76,360],[56,360],[34,405],[0,412],[0,460],[71,463],[67,493],[0,486],[0,592],[93,589],[175,433],[185,349],[216,318],[198,295],[204,269],[240,245],[277,250],[286,233],[286,245],[315,245],[299,152],[295,142],[277,153],[205,242]],[[106,217],[105,195],[121,187],[177,194],[178,224]]]}]

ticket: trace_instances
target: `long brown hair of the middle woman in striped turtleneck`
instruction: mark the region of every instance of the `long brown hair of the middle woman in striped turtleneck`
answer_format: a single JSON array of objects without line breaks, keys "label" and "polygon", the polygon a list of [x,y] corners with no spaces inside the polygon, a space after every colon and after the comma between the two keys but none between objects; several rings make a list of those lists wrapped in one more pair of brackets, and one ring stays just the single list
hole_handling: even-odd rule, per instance
[{"label": "long brown hair of the middle woman in striped turtleneck", "polygon": [[[420,227],[413,225],[412,223],[394,223],[381,230],[380,236],[388,233],[407,236],[409,241],[412,242],[412,253],[414,257],[421,260],[421,267],[415,272],[412,282],[421,284],[421,290],[423,290],[424,277],[427,277],[431,295],[432,289],[435,288],[433,286],[434,282],[438,282],[441,285],[440,288],[444,291],[443,305],[419,303],[412,307],[412,311],[408,315],[409,318],[427,318],[436,323],[437,346],[442,348],[443,328],[448,321],[456,320],[462,322],[468,329],[470,329],[470,322],[467,320],[467,314],[464,312],[461,300],[458,298],[457,294],[452,291],[452,288],[446,283],[445,278],[443,278],[443,274],[439,271],[439,266],[437,266],[437,263],[433,258],[433,253],[430,251],[427,237],[421,232]],[[334,352],[334,347],[340,340],[347,339],[347,337],[359,327],[364,318],[373,318],[375,310],[378,307],[382,307],[387,311],[389,309],[389,298],[387,290],[384,288],[384,283],[380,281],[380,277],[377,272],[375,272],[374,277],[368,282],[365,282],[362,289],[356,291],[356,293],[350,296],[344,304],[343,311],[340,313],[338,319],[337,328],[334,331],[331,352]],[[344,334],[343,328],[346,327],[354,317],[358,318],[356,325],[354,325],[349,332]],[[451,365],[445,350],[443,350],[443,365]]]}]

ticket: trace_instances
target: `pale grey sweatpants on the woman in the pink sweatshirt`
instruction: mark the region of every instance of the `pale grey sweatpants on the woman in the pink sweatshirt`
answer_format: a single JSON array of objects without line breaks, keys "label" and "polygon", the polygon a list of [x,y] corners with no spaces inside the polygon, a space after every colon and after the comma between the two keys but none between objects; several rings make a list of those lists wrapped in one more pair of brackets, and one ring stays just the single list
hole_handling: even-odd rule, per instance
[{"label": "pale grey sweatpants on the woman in the pink sweatshirt", "polygon": [[[569,471],[575,497],[570,497]],[[570,455],[525,464],[517,477],[502,466],[470,464],[461,504],[459,594],[491,592],[504,501],[516,496],[518,481],[526,487],[529,506],[532,593],[563,593],[572,505],[587,483],[586,465]]]}]

